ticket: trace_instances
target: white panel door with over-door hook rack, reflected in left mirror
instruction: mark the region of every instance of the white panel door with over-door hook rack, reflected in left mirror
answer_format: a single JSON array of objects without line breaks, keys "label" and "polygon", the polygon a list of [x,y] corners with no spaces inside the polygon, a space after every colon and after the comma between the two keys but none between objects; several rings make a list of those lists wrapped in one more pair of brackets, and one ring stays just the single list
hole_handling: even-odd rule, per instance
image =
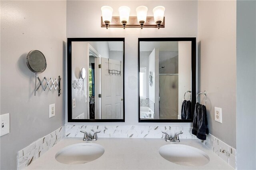
[{"label": "white panel door with over-door hook rack, reflected in left mirror", "polygon": [[108,70],[120,71],[120,61],[101,58],[101,119],[123,119],[123,71],[121,76]]}]

